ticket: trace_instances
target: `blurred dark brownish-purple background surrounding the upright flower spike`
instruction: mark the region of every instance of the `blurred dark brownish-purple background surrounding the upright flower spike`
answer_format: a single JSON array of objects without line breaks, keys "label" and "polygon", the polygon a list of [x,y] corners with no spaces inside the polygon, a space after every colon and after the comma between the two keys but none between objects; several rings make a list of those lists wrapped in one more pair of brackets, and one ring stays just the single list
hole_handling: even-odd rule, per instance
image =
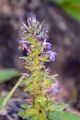
[{"label": "blurred dark brownish-purple background surrounding the upright flower spike", "polygon": [[[0,0],[0,69],[23,71],[18,59],[22,55],[17,44],[19,23],[32,14],[44,21],[48,41],[57,53],[48,66],[51,73],[59,74],[60,99],[80,111],[80,0]],[[8,90],[15,81],[1,84],[1,90]]]}]

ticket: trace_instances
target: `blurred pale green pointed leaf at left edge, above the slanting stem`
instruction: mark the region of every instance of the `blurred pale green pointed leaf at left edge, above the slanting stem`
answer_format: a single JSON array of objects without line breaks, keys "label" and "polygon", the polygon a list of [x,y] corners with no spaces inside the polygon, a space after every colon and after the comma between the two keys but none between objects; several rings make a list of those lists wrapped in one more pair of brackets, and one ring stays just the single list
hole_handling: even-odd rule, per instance
[{"label": "blurred pale green pointed leaf at left edge, above the slanting stem", "polygon": [[10,80],[11,78],[20,75],[20,73],[14,69],[5,69],[0,71],[0,83]]}]

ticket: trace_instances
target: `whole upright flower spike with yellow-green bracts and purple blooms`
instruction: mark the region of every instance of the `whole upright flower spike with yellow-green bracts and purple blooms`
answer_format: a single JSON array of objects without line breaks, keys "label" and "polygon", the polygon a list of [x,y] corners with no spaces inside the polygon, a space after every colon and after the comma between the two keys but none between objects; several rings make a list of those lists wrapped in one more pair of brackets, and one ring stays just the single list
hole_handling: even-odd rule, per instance
[{"label": "whole upright flower spike with yellow-green bracts and purple blooms", "polygon": [[45,66],[45,62],[55,60],[56,53],[47,42],[48,30],[43,27],[43,23],[40,24],[36,20],[36,16],[28,18],[28,25],[22,22],[20,32],[20,45],[27,54],[22,59],[25,61],[25,68],[29,70],[29,77],[24,73],[25,78],[21,84],[25,86],[24,91],[32,95],[32,101],[22,105],[26,110],[21,111],[19,115],[30,120],[48,120],[50,111],[64,108],[64,105],[59,106],[48,96],[50,92],[59,92],[59,88],[49,90],[51,84],[55,83],[56,75],[50,75]]}]

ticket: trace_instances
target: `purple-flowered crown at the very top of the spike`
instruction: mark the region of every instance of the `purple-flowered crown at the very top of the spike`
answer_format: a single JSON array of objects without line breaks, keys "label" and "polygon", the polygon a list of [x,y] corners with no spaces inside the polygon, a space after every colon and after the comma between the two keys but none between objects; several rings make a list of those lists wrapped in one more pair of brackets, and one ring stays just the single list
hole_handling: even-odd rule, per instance
[{"label": "purple-flowered crown at the very top of the spike", "polygon": [[[23,26],[23,28],[22,28],[23,33],[24,33],[24,30],[26,30],[30,34],[32,34],[32,33],[35,34],[39,41],[47,40],[48,29],[47,28],[44,29],[43,23],[39,24],[39,22],[36,20],[35,15],[28,18],[28,26],[26,25],[24,20],[22,20],[21,22],[22,22],[22,26]],[[48,45],[48,48],[49,47],[50,47],[50,45]]]}]

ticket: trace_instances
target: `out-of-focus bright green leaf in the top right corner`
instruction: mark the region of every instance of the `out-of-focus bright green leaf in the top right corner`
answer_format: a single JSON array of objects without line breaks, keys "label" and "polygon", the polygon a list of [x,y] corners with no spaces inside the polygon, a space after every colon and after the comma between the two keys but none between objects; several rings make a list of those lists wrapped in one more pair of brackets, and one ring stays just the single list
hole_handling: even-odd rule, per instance
[{"label": "out-of-focus bright green leaf in the top right corner", "polygon": [[50,1],[59,4],[69,16],[80,21],[80,0],[50,0]]}]

